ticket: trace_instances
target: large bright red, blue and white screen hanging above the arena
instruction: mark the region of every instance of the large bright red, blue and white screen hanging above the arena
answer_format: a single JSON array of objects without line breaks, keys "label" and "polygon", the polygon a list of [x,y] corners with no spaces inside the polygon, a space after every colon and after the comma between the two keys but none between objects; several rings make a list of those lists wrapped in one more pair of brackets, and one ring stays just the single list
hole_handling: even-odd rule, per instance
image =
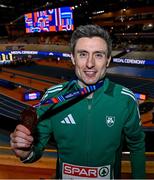
[{"label": "large bright red, blue and white screen hanging above the arena", "polygon": [[25,14],[26,33],[74,30],[72,7],[60,7]]}]

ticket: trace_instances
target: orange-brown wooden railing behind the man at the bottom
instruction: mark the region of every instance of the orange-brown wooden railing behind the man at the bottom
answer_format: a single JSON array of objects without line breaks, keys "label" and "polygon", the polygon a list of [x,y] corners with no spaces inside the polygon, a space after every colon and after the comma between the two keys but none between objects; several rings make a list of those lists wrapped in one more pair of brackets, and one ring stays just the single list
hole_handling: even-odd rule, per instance
[{"label": "orange-brown wooden railing behind the man at the bottom", "polygon": [[[0,179],[53,179],[56,173],[55,149],[46,149],[43,157],[35,163],[23,164],[14,154],[10,147],[0,147]],[[8,153],[9,151],[9,153]],[[122,157],[122,179],[131,178],[131,167],[129,158],[123,154]],[[154,178],[154,153],[146,153],[146,179]]]}]

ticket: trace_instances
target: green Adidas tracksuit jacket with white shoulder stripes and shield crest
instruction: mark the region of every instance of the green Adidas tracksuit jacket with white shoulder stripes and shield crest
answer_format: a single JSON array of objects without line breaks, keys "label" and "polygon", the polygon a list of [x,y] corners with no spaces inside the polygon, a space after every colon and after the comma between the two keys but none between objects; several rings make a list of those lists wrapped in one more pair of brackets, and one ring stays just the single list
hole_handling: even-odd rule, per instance
[{"label": "green Adidas tracksuit jacket with white shoulder stripes and shield crest", "polygon": [[[51,87],[44,99],[66,93],[78,85]],[[130,150],[133,178],[145,178],[144,133],[134,94],[127,88],[104,80],[93,98],[40,106],[36,128],[34,162],[42,155],[51,136],[57,143],[60,178],[117,178],[123,138]],[[97,169],[95,169],[95,167]],[[63,176],[62,176],[63,174]]]}]

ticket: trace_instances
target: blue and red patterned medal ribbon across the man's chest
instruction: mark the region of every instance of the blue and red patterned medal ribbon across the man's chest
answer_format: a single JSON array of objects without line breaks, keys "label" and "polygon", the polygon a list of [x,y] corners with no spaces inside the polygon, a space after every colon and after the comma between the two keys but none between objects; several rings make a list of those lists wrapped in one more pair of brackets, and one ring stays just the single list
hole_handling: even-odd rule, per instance
[{"label": "blue and red patterned medal ribbon across the man's chest", "polygon": [[59,102],[64,102],[66,100],[71,100],[79,96],[84,96],[94,92],[96,89],[100,88],[103,85],[103,81],[96,83],[95,85],[89,85],[84,88],[80,88],[77,91],[66,93],[64,95],[59,95],[57,97],[52,97],[40,101],[40,103],[34,105],[33,107],[38,107],[40,105],[49,105],[49,104],[58,104]]}]

